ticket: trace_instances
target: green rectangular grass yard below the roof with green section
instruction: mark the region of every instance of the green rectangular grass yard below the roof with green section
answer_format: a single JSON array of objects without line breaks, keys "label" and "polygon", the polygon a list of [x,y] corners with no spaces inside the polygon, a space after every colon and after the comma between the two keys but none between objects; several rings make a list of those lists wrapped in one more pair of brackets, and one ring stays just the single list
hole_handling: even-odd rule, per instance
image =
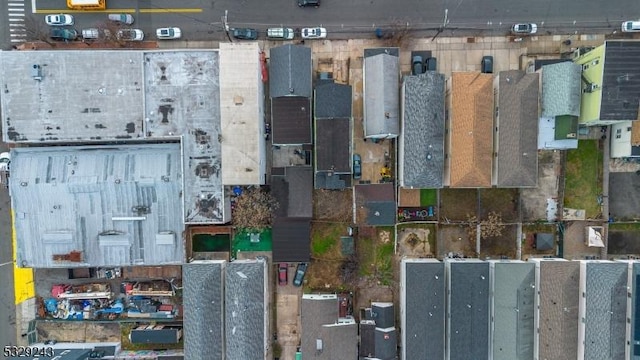
[{"label": "green rectangular grass yard below the roof with green section", "polygon": [[567,151],[564,206],[584,209],[587,218],[600,214],[598,195],[602,193],[602,151],[595,140],[580,140],[578,148]]}]

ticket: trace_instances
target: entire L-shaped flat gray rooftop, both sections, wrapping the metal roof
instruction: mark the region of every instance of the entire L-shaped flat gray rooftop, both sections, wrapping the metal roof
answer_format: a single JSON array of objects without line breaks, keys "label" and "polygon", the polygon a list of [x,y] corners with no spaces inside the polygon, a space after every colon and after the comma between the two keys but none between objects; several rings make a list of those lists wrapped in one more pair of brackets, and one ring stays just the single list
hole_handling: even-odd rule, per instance
[{"label": "entire L-shaped flat gray rooftop, both sections, wrapping the metal roof", "polygon": [[217,51],[5,51],[0,64],[6,141],[181,139],[184,221],[229,220]]}]

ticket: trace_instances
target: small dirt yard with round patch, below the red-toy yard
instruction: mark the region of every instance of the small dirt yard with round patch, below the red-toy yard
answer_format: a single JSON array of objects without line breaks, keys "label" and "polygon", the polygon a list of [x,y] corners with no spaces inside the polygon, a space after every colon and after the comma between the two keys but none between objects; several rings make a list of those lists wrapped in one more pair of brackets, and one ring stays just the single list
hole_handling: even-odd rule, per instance
[{"label": "small dirt yard with round patch, below the red-toy yard", "polygon": [[434,225],[398,227],[398,256],[436,256]]}]

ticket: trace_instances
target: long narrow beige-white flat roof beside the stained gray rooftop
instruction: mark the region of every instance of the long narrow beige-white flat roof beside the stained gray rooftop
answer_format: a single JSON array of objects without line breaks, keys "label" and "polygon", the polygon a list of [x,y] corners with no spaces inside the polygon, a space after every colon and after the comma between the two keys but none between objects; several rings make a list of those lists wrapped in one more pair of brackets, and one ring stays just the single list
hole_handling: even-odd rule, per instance
[{"label": "long narrow beige-white flat roof beside the stained gray rooftop", "polygon": [[264,91],[256,42],[220,43],[222,183],[265,182]]}]

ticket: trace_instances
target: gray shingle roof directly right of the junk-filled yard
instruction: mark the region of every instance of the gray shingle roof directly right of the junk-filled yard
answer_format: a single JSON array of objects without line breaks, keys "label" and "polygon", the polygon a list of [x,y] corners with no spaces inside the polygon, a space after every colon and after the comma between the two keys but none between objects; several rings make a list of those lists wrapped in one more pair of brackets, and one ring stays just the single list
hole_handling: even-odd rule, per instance
[{"label": "gray shingle roof directly right of the junk-filled yard", "polygon": [[222,360],[223,261],[197,261],[182,266],[184,356]]}]

